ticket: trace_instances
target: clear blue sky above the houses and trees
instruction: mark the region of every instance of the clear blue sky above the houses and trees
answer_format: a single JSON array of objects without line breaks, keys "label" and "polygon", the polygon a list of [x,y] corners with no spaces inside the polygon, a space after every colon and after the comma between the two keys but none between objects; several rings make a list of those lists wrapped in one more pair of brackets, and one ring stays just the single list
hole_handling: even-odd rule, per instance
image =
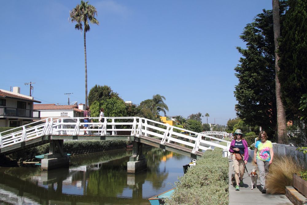
[{"label": "clear blue sky above the houses and trees", "polygon": [[[80,1],[4,1],[0,89],[19,86],[42,103],[85,102],[83,33],[68,21]],[[163,95],[167,115],[209,113],[208,123],[235,118],[234,68],[243,28],[269,0],[91,0],[99,26],[87,32],[88,92],[108,85],[139,104]],[[203,117],[206,122],[206,117]]]}]

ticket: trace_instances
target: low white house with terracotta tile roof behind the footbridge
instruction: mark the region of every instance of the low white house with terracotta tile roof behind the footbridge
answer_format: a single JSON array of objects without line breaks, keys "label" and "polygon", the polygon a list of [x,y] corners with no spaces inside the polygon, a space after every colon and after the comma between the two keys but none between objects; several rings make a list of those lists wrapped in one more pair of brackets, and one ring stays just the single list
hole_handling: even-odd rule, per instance
[{"label": "low white house with terracotta tile roof behind the footbridge", "polygon": [[41,119],[52,117],[54,120],[68,117],[83,117],[84,104],[79,105],[56,105],[34,104],[34,110],[40,111]]}]

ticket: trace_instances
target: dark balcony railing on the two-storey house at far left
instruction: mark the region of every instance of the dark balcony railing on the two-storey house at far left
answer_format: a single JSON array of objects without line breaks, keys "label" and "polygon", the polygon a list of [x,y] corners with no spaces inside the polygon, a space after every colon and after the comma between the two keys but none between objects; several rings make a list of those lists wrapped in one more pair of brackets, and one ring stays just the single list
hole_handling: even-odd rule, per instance
[{"label": "dark balcony railing on the two-storey house at far left", "polygon": [[41,118],[41,111],[19,109],[19,108],[0,107],[0,116],[1,115],[2,116]]}]

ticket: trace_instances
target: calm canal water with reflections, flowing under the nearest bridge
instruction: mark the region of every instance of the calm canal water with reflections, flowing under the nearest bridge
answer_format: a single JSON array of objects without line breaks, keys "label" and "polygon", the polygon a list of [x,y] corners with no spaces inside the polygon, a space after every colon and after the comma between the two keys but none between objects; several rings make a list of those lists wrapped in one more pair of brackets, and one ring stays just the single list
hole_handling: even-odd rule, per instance
[{"label": "calm canal water with reflections, flowing under the nearest bridge", "polygon": [[145,146],[147,170],[127,173],[132,149],[71,156],[69,168],[0,168],[0,204],[150,204],[173,188],[192,158]]}]

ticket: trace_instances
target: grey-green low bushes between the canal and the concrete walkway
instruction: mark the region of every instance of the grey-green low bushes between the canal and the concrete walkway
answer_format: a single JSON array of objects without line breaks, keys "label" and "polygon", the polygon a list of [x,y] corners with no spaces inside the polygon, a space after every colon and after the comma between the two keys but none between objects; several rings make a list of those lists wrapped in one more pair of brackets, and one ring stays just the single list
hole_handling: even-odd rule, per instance
[{"label": "grey-green low bushes between the canal and the concrete walkway", "polygon": [[222,149],[204,152],[196,166],[175,182],[176,189],[166,203],[173,204],[228,204],[228,158]]}]

